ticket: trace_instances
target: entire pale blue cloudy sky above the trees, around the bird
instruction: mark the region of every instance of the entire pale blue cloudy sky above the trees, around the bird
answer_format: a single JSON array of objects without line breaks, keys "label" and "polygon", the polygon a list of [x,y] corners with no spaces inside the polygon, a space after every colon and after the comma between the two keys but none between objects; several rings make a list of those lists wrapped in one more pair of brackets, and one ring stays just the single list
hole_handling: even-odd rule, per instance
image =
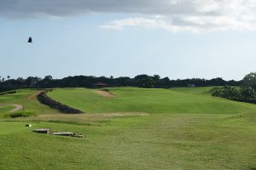
[{"label": "entire pale blue cloudy sky above the trees, around the bird", "polygon": [[1,77],[241,80],[256,0],[1,0],[0,38]]}]

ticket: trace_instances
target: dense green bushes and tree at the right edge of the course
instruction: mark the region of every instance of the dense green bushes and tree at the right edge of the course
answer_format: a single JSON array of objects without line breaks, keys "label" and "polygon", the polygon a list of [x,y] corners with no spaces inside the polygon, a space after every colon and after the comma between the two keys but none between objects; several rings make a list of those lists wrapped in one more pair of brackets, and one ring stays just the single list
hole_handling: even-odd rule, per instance
[{"label": "dense green bushes and tree at the right edge of the course", "polygon": [[248,74],[241,82],[240,88],[227,85],[223,88],[214,88],[212,95],[225,99],[256,103],[256,73]]}]

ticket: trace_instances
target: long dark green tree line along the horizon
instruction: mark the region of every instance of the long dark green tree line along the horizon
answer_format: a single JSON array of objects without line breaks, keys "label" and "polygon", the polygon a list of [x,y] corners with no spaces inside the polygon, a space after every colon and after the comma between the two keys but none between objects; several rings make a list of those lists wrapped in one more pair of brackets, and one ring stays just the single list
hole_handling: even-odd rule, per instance
[{"label": "long dark green tree line along the horizon", "polygon": [[170,80],[169,77],[160,77],[159,75],[148,76],[138,75],[136,77],[92,77],[75,76],[54,79],[51,76],[44,78],[27,77],[12,79],[8,77],[0,79],[0,92],[18,89],[18,88],[96,88],[96,83],[102,82],[108,84],[108,87],[138,87],[138,88],[174,88],[187,87],[189,84],[195,87],[207,86],[240,86],[241,81],[225,81],[222,78],[213,78],[211,80],[192,78]]}]

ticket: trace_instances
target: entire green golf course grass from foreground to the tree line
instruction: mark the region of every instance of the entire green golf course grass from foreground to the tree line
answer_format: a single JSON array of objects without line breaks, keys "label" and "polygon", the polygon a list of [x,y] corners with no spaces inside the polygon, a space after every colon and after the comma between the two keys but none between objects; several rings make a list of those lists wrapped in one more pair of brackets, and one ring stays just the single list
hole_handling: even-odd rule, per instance
[{"label": "entire green golf course grass from foreground to the tree line", "polygon": [[[54,88],[47,93],[81,114],[40,103],[36,89],[0,95],[0,169],[255,170],[256,105],[212,97],[211,91]],[[14,105],[23,108],[10,112]],[[84,138],[32,132],[38,128]]]}]

